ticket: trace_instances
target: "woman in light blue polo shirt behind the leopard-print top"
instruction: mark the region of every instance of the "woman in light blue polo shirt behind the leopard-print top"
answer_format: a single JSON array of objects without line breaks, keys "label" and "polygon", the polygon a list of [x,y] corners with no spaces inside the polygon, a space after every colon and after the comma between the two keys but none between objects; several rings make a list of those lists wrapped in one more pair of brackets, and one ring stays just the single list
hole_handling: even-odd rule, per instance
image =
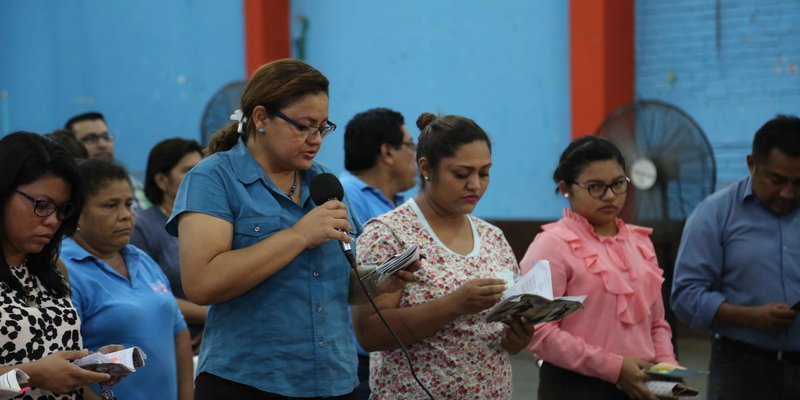
[{"label": "woman in light blue polo shirt behind the leopard-print top", "polygon": [[[101,159],[78,165],[85,202],[78,229],[61,246],[84,345],[138,346],[145,365],[114,386],[125,400],[189,400],[189,331],[158,264],[128,245],[135,214],[125,168]],[[99,387],[92,387],[99,393]]]}]

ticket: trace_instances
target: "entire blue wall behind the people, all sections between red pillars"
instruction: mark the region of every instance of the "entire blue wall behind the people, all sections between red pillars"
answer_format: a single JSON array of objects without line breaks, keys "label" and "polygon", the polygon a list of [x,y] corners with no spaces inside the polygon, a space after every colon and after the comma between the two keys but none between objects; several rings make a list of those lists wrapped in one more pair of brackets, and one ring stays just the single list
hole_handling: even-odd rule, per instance
[{"label": "entire blue wall behind the people, all sections between red pillars", "polygon": [[[331,79],[332,120],[343,128],[386,106],[416,136],[423,111],[471,117],[494,139],[492,183],[476,213],[547,220],[564,204],[549,177],[570,139],[568,4],[293,0],[291,15],[296,37],[300,18],[309,23],[306,61]],[[797,21],[796,0],[636,3],[637,97],[699,122],[721,184],[745,173],[765,120],[800,113]],[[100,110],[118,159],[141,174],[157,141],[200,138],[208,99],[244,78],[242,38],[235,0],[0,1],[0,92],[9,94],[0,130],[48,132]],[[320,155],[337,171],[342,136]]]}]

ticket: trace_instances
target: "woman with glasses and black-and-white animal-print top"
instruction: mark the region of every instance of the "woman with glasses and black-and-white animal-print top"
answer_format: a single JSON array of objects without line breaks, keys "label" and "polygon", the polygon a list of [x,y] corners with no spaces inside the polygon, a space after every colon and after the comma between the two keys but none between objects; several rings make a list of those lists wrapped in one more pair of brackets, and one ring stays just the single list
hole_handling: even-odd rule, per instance
[{"label": "woman with glasses and black-and-white animal-print top", "polygon": [[82,398],[80,387],[110,376],[71,363],[88,352],[56,257],[83,203],[75,161],[45,137],[17,132],[0,140],[0,171],[0,374],[28,374],[26,399]]}]

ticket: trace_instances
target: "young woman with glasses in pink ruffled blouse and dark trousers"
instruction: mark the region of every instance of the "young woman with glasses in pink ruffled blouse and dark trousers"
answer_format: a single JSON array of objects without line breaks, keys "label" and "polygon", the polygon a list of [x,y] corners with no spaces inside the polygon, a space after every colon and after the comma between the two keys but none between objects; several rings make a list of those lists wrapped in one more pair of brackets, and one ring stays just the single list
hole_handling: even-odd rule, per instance
[{"label": "young woman with glasses in pink ruffled blouse and dark trousers", "polygon": [[622,154],[605,139],[580,138],[561,154],[553,180],[570,209],[542,227],[522,270],[549,260],[554,296],[588,296],[583,310],[536,329],[539,399],[655,400],[643,370],[677,361],[652,230],[618,218],[630,183]]}]

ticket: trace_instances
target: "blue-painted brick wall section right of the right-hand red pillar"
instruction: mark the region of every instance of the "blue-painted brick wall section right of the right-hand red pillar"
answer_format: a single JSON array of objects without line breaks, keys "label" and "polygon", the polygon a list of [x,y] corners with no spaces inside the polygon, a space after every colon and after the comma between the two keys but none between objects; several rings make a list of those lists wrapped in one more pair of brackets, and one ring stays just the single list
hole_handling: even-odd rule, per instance
[{"label": "blue-painted brick wall section right of the right-hand red pillar", "polygon": [[636,92],[690,114],[725,186],[747,174],[755,131],[800,114],[800,2],[638,0]]}]

